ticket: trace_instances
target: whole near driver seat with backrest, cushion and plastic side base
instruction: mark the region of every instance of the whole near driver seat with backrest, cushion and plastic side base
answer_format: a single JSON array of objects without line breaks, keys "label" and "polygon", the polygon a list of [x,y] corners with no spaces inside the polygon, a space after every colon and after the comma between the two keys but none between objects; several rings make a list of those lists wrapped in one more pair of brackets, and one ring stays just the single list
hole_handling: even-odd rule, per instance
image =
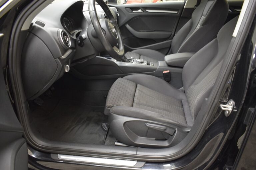
[{"label": "whole near driver seat with backrest, cushion and plastic side base", "polygon": [[145,74],[128,75],[114,82],[105,114],[118,141],[138,147],[169,147],[185,138],[211,93],[237,19],[224,25],[217,38],[185,64],[184,91]]}]

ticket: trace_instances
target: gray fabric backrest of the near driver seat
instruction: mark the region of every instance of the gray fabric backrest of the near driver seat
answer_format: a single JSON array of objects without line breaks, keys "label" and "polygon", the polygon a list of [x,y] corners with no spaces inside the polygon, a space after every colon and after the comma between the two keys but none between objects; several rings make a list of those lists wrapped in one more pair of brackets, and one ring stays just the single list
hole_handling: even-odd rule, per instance
[{"label": "gray fabric backrest of the near driver seat", "polygon": [[193,119],[209,97],[232,39],[238,17],[225,24],[217,38],[195,53],[185,64],[182,81]]}]

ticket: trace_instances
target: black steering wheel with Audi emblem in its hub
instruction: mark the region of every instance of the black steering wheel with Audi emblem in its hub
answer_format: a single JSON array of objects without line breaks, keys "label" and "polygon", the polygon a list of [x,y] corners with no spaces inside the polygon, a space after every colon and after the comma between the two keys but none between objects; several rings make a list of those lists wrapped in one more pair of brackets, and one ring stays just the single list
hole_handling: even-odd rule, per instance
[{"label": "black steering wheel with Audi emblem in its hub", "polygon": [[[108,19],[98,19],[95,1],[101,6]],[[110,56],[116,60],[124,57],[124,44],[116,20],[103,0],[89,0],[89,14],[98,39]],[[118,47],[117,47],[118,44]]]}]

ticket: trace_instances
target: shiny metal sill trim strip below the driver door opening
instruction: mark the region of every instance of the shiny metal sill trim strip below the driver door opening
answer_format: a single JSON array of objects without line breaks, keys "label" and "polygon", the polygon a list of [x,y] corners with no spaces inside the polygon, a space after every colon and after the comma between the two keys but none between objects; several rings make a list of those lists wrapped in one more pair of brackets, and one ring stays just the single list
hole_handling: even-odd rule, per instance
[{"label": "shiny metal sill trim strip below the driver door opening", "polygon": [[133,160],[122,160],[122,159],[109,159],[109,158],[97,158],[89,156],[74,156],[74,155],[63,155],[58,154],[58,158],[62,160],[80,161],[87,163],[99,163],[107,165],[119,165],[119,166],[135,166],[137,161]]}]

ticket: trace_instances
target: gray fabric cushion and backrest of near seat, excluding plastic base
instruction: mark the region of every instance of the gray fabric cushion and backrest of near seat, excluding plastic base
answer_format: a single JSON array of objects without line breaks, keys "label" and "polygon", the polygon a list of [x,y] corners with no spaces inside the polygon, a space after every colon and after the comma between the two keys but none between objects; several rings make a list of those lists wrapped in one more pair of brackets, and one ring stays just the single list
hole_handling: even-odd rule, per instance
[{"label": "gray fabric cushion and backrest of near seat, excluding plastic base", "polygon": [[217,79],[237,19],[223,26],[217,38],[185,64],[182,72],[184,91],[154,76],[129,75],[117,79],[111,87],[106,103],[110,112],[182,127],[192,126]]}]

